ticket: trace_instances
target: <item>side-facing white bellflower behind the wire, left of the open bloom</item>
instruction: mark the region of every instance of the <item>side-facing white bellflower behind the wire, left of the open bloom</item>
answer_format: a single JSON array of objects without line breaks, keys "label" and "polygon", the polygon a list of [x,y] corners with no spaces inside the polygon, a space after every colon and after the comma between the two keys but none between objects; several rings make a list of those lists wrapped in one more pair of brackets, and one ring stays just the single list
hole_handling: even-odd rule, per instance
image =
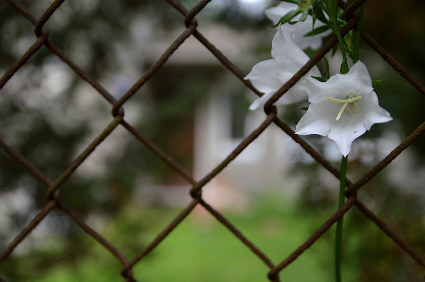
[{"label": "side-facing white bellflower behind the wire, left of the open bloom", "polygon": [[[271,56],[273,59],[261,61],[252,67],[244,79],[249,79],[263,96],[255,100],[250,110],[264,105],[267,100],[285,84],[310,59],[294,42],[294,35],[288,29],[278,26],[273,37]],[[306,76],[320,76],[314,66]],[[307,100],[306,77],[302,77],[291,89],[280,97],[274,105],[289,105]]]}]

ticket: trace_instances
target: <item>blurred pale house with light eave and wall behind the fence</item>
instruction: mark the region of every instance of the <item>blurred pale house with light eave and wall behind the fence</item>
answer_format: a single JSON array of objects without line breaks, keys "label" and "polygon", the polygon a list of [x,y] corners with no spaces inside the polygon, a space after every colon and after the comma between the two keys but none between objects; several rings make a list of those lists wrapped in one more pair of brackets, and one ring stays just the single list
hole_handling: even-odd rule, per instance
[{"label": "blurred pale house with light eave and wall behind the fence", "polygon": [[[200,28],[200,31],[210,40],[228,59],[247,73],[258,62],[254,56],[254,49],[259,40],[270,42],[273,31],[255,33],[253,31],[236,31],[225,26],[209,25]],[[151,41],[149,57],[158,58],[169,46],[173,38],[182,32],[176,30],[162,38]],[[249,111],[249,104],[256,95],[249,90],[229,70],[223,67],[213,54],[195,37],[189,37],[182,46],[170,57],[164,65],[168,70],[168,77],[182,77],[198,75],[198,80],[204,80],[203,87],[196,88],[196,109],[193,120],[186,122],[192,124],[193,132],[193,175],[196,180],[202,179],[216,165],[223,161],[231,151],[261,122],[265,114],[261,109]],[[162,71],[162,70],[161,70]],[[184,72],[182,74],[182,72]],[[200,78],[201,77],[201,78]],[[171,81],[171,82],[170,82]],[[191,81],[191,80],[189,80]],[[195,83],[194,81],[191,81]],[[199,81],[198,81],[199,82]],[[164,91],[179,91],[187,88],[187,80],[167,81],[169,90],[164,90],[164,83],[153,83],[152,91],[163,95]],[[195,83],[196,84],[196,83]],[[199,84],[198,84],[199,85]],[[161,90],[160,90],[161,89]],[[163,93],[163,94],[160,94]],[[155,94],[154,94],[155,95]],[[173,93],[167,93],[173,95]],[[167,130],[165,128],[165,130]],[[179,142],[187,139],[188,132],[176,136],[174,148],[182,147]],[[253,141],[240,155],[238,155],[224,170],[213,178],[203,189],[203,196],[216,204],[230,204],[241,191],[261,192],[264,189],[280,187],[292,191],[293,179],[288,174],[291,165],[288,151],[297,144],[289,140],[280,129],[274,125],[269,126],[261,136]],[[171,153],[172,155],[176,152]],[[177,153],[178,154],[178,153]],[[176,185],[178,183],[169,183]],[[177,189],[177,188],[176,188]],[[186,183],[181,187],[187,191]],[[156,187],[157,191],[163,190],[164,197],[170,194],[169,188]],[[184,193],[187,196],[187,193]],[[177,194],[167,202],[176,201]],[[229,202],[226,202],[229,201]]]}]

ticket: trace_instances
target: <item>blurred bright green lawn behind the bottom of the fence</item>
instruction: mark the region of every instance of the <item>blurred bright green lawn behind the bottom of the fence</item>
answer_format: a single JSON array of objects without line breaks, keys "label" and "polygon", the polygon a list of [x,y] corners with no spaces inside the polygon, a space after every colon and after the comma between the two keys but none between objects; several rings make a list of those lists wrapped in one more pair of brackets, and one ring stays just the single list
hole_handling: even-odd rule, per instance
[{"label": "blurred bright green lawn behind the bottom of the fence", "polygon": [[[131,259],[178,212],[178,209],[127,206],[99,232]],[[253,202],[246,212],[223,213],[274,264],[291,254],[330,215],[330,212],[322,215],[303,212],[274,195]],[[46,260],[43,268],[25,269],[19,281],[122,281],[122,267],[112,255],[91,238],[81,236],[81,246],[75,247],[81,251],[72,258],[66,253],[50,252],[53,258]],[[283,270],[282,281],[333,281],[333,236],[332,229]],[[24,261],[23,258],[13,260]],[[343,275],[347,277],[344,281],[355,281],[354,272],[348,267],[343,265]],[[204,210],[197,210],[135,266],[134,276],[143,282],[265,282],[268,271],[268,267],[221,223]]]}]

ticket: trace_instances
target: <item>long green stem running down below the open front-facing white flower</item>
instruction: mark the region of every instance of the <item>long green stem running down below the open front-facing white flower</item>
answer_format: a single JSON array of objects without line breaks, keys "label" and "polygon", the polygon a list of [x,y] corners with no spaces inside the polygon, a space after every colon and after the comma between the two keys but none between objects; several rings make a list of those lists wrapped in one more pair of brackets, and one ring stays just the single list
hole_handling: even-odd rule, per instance
[{"label": "long green stem running down below the open front-facing white flower", "polygon": [[[341,181],[339,190],[338,208],[341,208],[345,203],[345,176],[347,174],[347,159],[348,156],[343,156],[341,161]],[[336,237],[335,237],[335,275],[336,282],[341,282],[341,245],[342,245],[342,225],[344,216],[337,222]]]}]

